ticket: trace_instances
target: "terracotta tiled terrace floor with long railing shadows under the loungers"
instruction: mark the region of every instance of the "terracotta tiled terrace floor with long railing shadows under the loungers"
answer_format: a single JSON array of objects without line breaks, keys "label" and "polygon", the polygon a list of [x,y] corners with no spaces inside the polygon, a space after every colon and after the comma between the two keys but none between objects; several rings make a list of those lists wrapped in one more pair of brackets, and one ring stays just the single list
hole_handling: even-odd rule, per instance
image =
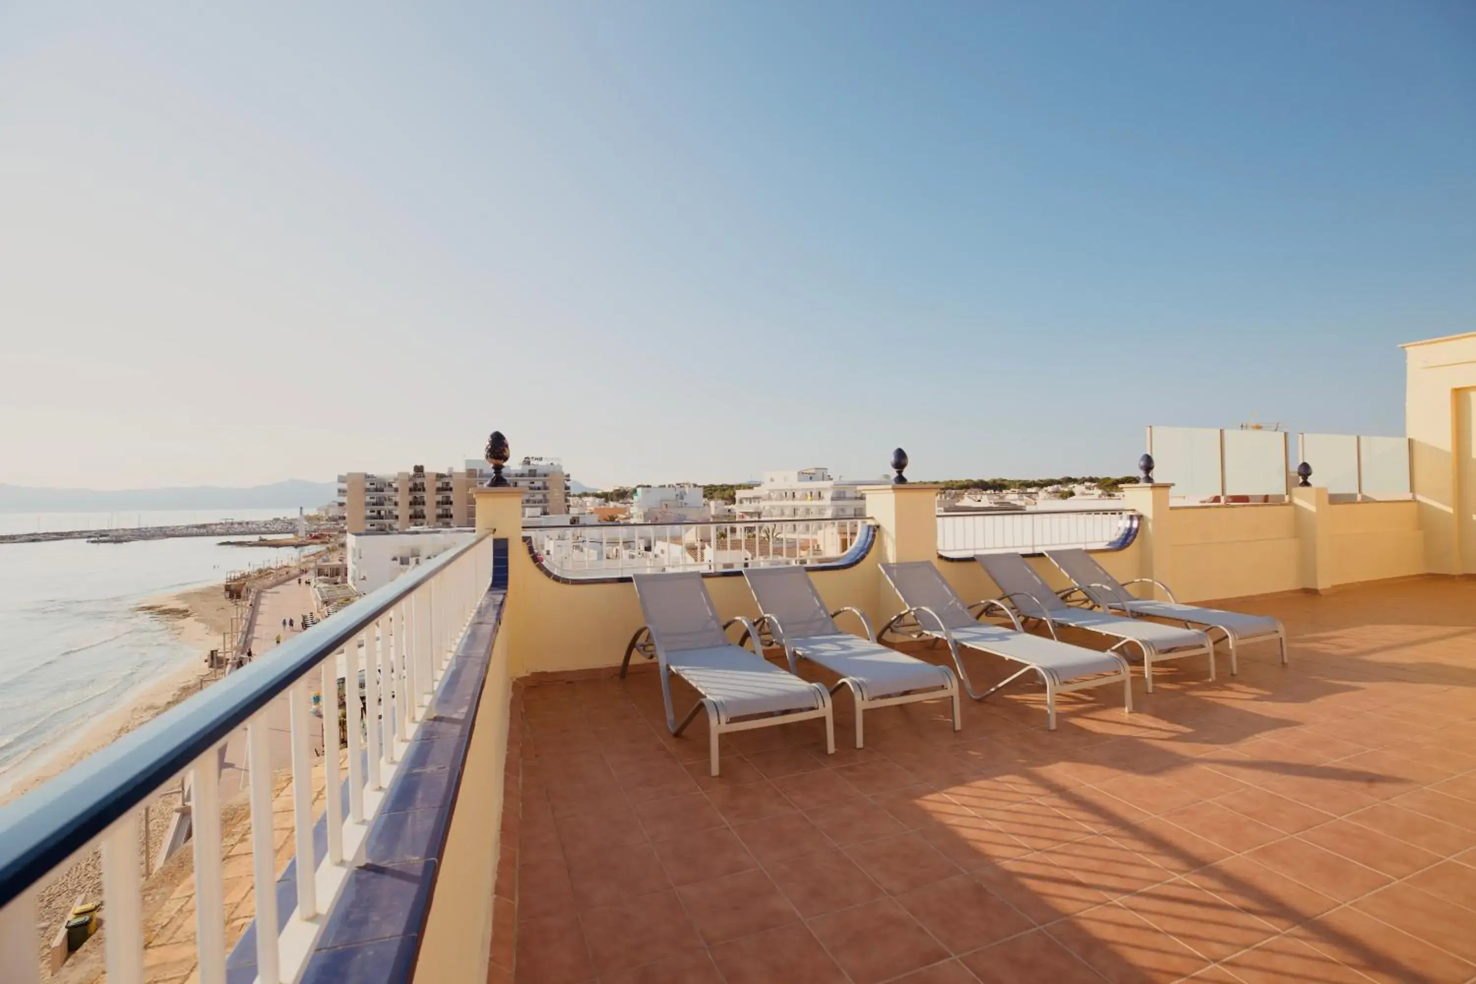
[{"label": "terracotta tiled terrace floor with long railing shadows under the loungers", "polygon": [[1476,583],[1240,608],[1290,667],[1185,661],[1055,733],[1024,686],[956,735],[887,708],[863,751],[843,693],[834,755],[816,721],[747,732],[717,779],[649,673],[528,686],[492,980],[1472,980]]}]

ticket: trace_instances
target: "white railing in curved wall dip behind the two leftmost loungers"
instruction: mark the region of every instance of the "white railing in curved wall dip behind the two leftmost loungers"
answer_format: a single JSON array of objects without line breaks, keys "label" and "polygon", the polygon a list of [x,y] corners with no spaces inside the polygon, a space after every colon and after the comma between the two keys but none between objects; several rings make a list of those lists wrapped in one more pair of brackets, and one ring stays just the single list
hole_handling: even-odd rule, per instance
[{"label": "white railing in curved wall dip behind the two leftmost loungers", "polygon": [[735,571],[846,559],[871,536],[871,519],[589,524],[533,527],[534,558],[570,580],[660,571]]}]

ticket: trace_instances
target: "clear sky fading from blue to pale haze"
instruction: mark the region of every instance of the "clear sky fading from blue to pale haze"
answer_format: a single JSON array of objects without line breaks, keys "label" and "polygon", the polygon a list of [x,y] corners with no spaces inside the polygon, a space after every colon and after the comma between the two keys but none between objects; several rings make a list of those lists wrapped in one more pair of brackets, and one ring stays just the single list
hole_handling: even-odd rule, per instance
[{"label": "clear sky fading from blue to pale haze", "polygon": [[1476,329],[1470,3],[266,6],[0,9],[0,481],[1123,474]]}]

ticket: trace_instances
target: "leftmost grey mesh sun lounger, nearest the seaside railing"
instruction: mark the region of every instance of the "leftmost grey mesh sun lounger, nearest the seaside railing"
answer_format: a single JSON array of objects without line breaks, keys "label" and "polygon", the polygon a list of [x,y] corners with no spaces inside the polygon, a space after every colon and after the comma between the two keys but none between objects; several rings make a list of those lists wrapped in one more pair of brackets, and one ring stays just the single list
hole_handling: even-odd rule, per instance
[{"label": "leftmost grey mesh sun lounger, nearest the seaside railing", "polygon": [[[714,776],[717,736],[723,732],[822,717],[827,751],[835,751],[835,724],[825,686],[801,680],[765,659],[759,631],[747,618],[720,623],[701,574],[636,574],[632,580],[646,624],[630,637],[620,676],[626,676],[633,652],[660,662],[666,726],[673,735],[680,735],[700,710],[707,710],[708,760]],[[728,642],[726,630],[734,623],[753,639],[753,652]],[[682,677],[701,695],[680,724],[672,710],[669,674]]]}]

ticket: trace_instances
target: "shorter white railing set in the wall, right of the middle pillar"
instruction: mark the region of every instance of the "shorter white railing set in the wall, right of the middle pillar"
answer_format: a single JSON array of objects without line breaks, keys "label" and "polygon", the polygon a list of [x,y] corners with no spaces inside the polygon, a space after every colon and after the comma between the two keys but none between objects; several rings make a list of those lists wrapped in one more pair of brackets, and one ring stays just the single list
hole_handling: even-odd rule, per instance
[{"label": "shorter white railing set in the wall, right of the middle pillar", "polygon": [[976,553],[1041,553],[1055,547],[1120,550],[1138,533],[1131,509],[1042,509],[952,512],[937,516],[937,552],[945,558]]}]

